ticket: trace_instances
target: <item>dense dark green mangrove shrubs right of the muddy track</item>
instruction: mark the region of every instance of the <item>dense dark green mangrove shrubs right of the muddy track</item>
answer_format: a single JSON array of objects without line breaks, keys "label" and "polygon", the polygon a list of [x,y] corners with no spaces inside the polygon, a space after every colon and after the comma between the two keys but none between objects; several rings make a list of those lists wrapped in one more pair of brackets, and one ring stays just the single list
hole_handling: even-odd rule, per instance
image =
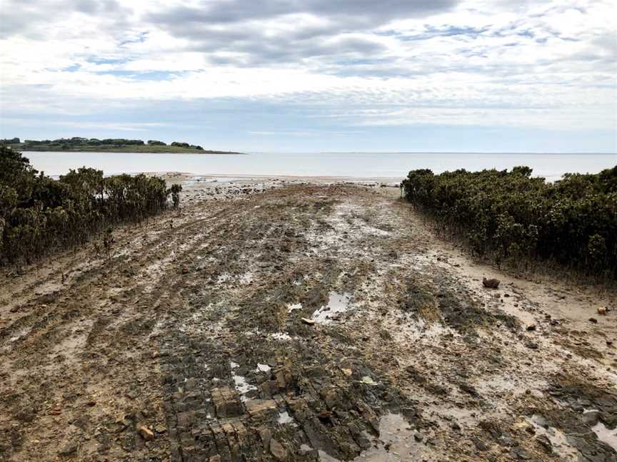
[{"label": "dense dark green mangrove shrubs right of the muddy track", "polygon": [[412,170],[403,188],[409,202],[480,255],[617,276],[617,167],[555,183],[531,177],[528,167]]}]

